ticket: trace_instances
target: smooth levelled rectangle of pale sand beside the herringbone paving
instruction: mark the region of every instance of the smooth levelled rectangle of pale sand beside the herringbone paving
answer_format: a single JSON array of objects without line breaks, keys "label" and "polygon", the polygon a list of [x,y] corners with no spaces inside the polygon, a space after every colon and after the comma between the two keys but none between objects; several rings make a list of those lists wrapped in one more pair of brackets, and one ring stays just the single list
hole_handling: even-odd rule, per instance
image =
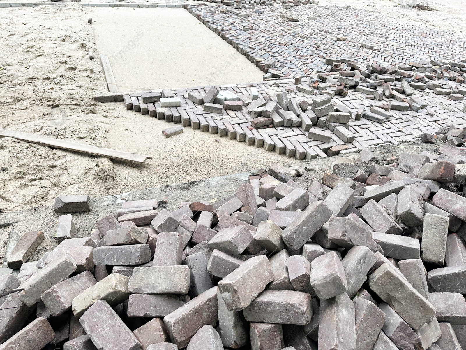
[{"label": "smooth levelled rectangle of pale sand beside the herringbone paving", "polygon": [[246,57],[181,8],[97,8],[96,47],[118,91],[260,81]]}]

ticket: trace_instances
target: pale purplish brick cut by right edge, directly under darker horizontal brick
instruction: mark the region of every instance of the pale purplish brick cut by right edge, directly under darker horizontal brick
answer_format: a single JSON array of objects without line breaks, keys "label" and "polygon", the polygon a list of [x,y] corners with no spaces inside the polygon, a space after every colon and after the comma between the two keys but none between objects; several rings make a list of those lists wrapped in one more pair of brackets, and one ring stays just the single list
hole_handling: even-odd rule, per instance
[{"label": "pale purplish brick cut by right edge, directly under darker horizontal brick", "polygon": [[429,293],[429,301],[435,308],[439,322],[466,324],[466,302],[459,293]]}]

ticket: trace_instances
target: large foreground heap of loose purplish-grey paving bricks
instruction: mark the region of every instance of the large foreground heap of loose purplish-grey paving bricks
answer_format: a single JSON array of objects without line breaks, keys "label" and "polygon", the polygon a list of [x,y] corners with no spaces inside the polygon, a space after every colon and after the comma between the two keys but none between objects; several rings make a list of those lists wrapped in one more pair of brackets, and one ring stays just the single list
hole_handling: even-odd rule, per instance
[{"label": "large foreground heap of loose purplish-grey paving bricks", "polygon": [[87,238],[89,196],[56,198],[59,245],[8,254],[0,349],[465,348],[466,151],[380,156],[308,189],[274,164],[219,202],[124,202]]}]

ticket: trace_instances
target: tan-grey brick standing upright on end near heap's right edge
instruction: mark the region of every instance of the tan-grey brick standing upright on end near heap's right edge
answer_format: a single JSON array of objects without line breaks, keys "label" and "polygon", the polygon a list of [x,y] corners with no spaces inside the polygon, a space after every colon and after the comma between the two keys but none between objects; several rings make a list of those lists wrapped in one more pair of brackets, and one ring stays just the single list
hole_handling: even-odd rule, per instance
[{"label": "tan-grey brick standing upright on end near heap's right edge", "polygon": [[441,215],[425,214],[421,245],[424,261],[443,265],[449,220]]}]

